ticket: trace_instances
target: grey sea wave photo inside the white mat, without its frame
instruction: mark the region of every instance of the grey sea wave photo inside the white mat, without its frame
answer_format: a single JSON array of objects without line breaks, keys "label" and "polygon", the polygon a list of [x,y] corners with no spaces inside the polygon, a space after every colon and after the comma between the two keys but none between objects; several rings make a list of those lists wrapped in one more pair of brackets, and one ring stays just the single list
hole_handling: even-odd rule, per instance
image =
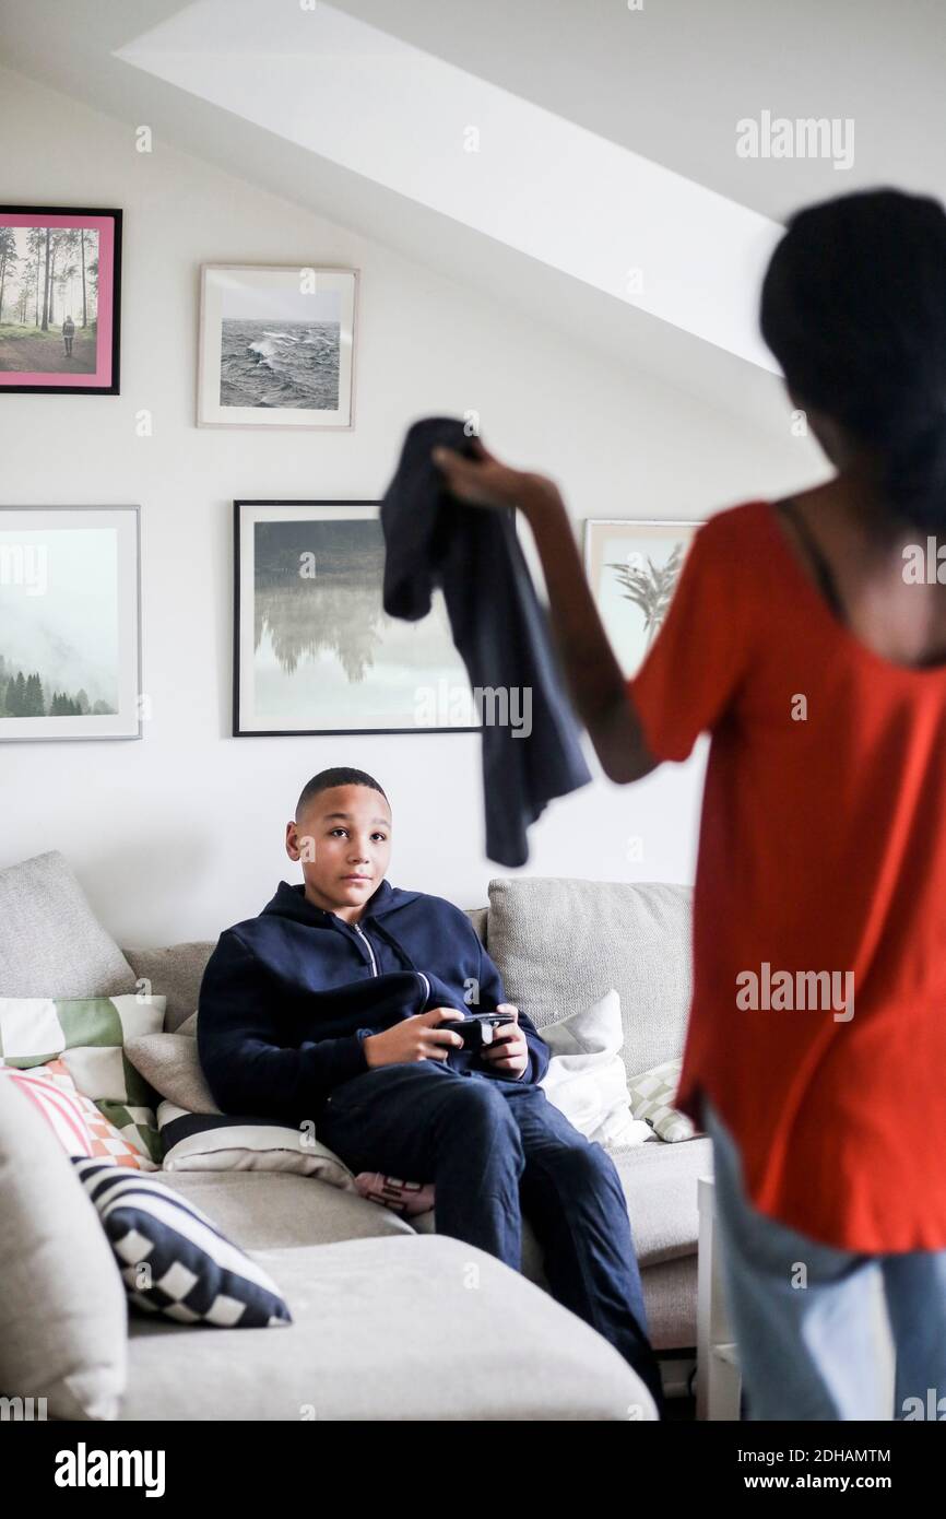
[{"label": "grey sea wave photo inside the white mat, without its frame", "polygon": [[223,317],[220,406],[339,407],[339,322]]}]

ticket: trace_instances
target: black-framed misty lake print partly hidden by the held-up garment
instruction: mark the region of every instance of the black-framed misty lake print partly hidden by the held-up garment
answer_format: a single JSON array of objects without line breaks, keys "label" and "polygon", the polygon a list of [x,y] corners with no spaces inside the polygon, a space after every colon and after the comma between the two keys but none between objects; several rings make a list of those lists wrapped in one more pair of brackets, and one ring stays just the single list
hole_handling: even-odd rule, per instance
[{"label": "black-framed misty lake print partly hidden by the held-up garment", "polygon": [[478,729],[443,594],[383,608],[377,501],[234,501],[234,735]]}]

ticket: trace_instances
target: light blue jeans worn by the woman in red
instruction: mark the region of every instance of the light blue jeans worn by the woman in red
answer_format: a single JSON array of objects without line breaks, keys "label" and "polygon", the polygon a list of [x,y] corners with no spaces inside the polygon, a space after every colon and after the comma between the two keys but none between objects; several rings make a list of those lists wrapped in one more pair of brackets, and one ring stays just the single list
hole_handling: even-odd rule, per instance
[{"label": "light blue jeans worn by the woman in red", "polygon": [[[747,1417],[946,1419],[946,1250],[859,1255],[818,1244],[749,1203],[738,1147],[706,1094],[703,1129]],[[896,1344],[893,1410],[873,1343],[878,1273]]]}]

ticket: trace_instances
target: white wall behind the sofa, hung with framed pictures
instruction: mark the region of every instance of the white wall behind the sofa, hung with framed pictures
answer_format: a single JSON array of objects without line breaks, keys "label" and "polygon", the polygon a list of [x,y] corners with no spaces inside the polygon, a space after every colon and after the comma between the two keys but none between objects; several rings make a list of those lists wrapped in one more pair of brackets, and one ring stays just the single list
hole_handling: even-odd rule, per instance
[{"label": "white wall behind the sofa, hung with framed pictures", "polygon": [[[0,866],[61,849],[121,943],[216,937],[301,880],[282,848],[302,784],[354,764],[393,808],[395,886],[462,907],[506,873],[483,854],[475,734],[231,738],[235,497],[377,498],[405,427],[477,409],[489,445],[560,483],[583,516],[703,516],[820,472],[721,412],[575,352],[431,272],[229,178],[132,126],[0,73],[5,196],[125,210],[120,396],[0,398],[5,504],[141,504],[141,741],[0,743]],[[436,254],[431,251],[431,258]],[[351,433],[194,427],[199,266],[361,270]],[[153,413],[138,437],[135,413]],[[0,629],[2,643],[2,629]],[[702,761],[638,787],[604,779],[547,810],[525,873],[692,880]],[[598,770],[595,767],[595,775]],[[641,835],[644,860],[627,858]]]}]

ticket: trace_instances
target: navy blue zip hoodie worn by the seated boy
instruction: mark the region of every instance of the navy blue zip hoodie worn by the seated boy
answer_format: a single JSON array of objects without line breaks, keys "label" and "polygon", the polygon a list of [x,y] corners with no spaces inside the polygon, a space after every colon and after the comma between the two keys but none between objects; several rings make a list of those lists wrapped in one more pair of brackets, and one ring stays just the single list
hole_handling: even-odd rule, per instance
[{"label": "navy blue zip hoodie worn by the seated boy", "polygon": [[[366,1034],[430,1007],[489,1013],[504,1001],[497,966],[453,902],[383,880],[352,925],[279,881],[258,917],[220,934],[200,981],[197,1053],[225,1113],[296,1126],[369,1069]],[[518,1080],[541,1082],[551,1051],[522,1012],[519,1028],[530,1056]],[[451,1048],[446,1063],[516,1080],[469,1050]]]}]

